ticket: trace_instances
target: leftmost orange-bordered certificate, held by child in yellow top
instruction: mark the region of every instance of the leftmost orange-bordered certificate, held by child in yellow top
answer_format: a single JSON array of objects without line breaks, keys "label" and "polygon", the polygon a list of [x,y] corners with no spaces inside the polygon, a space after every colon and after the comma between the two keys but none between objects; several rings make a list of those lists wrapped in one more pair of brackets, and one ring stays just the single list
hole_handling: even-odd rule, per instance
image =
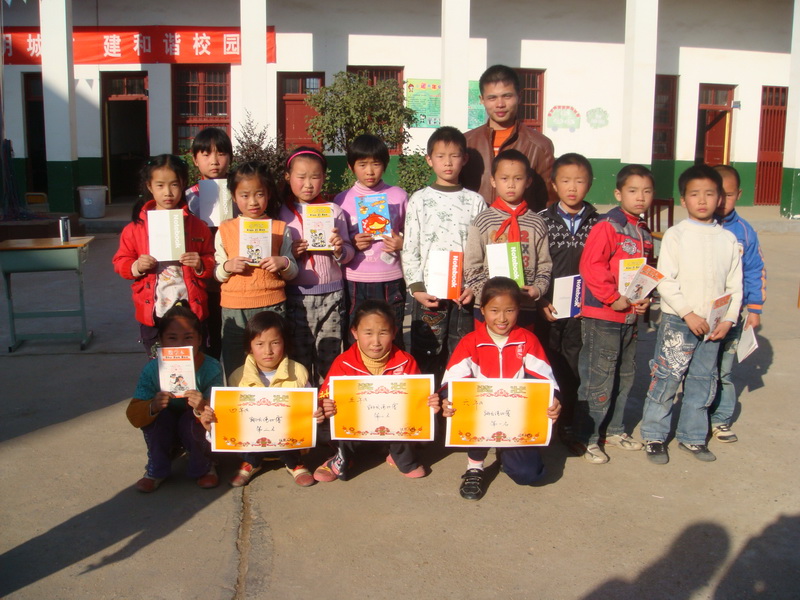
[{"label": "leftmost orange-bordered certificate, held by child in yellow top", "polygon": [[313,448],[317,442],[317,390],[212,388],[214,452],[271,452]]}]

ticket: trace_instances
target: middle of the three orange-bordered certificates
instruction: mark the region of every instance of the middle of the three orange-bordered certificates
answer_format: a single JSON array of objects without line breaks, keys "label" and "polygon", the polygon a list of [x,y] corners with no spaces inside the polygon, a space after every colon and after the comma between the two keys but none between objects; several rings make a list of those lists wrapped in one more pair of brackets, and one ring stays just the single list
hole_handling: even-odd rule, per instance
[{"label": "middle of the three orange-bordered certificates", "polygon": [[334,440],[433,440],[433,375],[331,377]]}]

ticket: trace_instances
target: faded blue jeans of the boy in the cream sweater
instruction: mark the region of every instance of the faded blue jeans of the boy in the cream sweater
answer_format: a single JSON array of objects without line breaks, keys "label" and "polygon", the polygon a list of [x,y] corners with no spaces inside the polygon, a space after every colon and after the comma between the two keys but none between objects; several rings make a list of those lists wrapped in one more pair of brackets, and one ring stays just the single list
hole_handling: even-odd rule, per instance
[{"label": "faded blue jeans of the boy in the cream sweater", "polygon": [[642,437],[665,442],[672,423],[675,394],[681,381],[683,400],[675,437],[684,444],[705,444],[708,407],[717,392],[720,343],[704,342],[678,316],[664,314],[658,328],[655,358],[650,362],[652,381],[642,417]]}]

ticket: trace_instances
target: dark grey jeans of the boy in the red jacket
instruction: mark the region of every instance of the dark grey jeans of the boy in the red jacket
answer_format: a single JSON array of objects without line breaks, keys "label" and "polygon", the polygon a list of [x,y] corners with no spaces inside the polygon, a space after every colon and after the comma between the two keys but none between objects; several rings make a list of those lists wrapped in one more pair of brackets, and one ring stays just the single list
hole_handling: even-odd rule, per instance
[{"label": "dark grey jeans of the boy in the red jacket", "polygon": [[581,338],[576,433],[579,441],[597,444],[601,434],[625,433],[622,419],[636,375],[637,325],[583,318]]}]

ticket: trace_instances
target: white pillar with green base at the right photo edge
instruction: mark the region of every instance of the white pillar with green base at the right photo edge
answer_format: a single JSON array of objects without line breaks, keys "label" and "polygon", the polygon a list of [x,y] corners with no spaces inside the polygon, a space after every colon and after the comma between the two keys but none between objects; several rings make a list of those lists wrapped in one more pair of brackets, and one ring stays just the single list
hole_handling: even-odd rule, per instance
[{"label": "white pillar with green base at the right photo edge", "polygon": [[789,98],[786,141],[783,146],[781,215],[800,219],[800,2],[794,3],[792,54],[789,59]]}]

